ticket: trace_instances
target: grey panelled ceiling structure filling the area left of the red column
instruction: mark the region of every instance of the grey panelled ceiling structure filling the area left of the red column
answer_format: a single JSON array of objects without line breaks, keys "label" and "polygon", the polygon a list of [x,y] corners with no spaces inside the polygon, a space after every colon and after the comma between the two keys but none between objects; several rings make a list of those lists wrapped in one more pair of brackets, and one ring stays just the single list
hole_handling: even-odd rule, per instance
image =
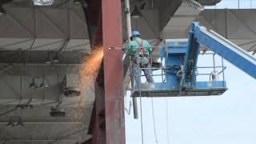
[{"label": "grey panelled ceiling structure filling the area left of the red column", "polygon": [[[55,0],[52,6],[14,0],[2,7],[6,15],[0,16],[0,143],[75,143],[90,138],[97,73],[82,71],[91,54],[82,6],[73,0]],[[60,62],[53,63],[56,56]],[[33,78],[38,85],[44,79],[49,88],[30,89]],[[66,97],[64,80],[81,94]],[[17,105],[25,108],[18,110]],[[65,110],[65,117],[50,116],[56,106]],[[10,118],[15,123],[22,118],[24,127],[7,126]]]}]

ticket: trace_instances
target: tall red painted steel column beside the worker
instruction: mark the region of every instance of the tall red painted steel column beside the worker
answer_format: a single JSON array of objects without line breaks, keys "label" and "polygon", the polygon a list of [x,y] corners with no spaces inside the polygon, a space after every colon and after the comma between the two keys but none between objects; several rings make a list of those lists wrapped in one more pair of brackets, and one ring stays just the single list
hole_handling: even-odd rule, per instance
[{"label": "tall red painted steel column beside the worker", "polygon": [[121,0],[102,0],[102,35],[106,109],[106,144],[125,144]]}]

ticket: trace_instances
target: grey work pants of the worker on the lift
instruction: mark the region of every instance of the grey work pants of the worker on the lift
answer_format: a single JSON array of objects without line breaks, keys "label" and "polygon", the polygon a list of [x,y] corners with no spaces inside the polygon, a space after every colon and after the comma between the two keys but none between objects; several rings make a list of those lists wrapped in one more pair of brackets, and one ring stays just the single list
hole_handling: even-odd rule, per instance
[{"label": "grey work pants of the worker on the lift", "polygon": [[[142,68],[146,68],[142,70]],[[152,70],[150,64],[146,65],[145,67],[139,66],[137,63],[133,64],[133,75],[134,75],[134,90],[138,90],[139,83],[141,82],[141,75],[142,71],[145,74],[146,81],[149,83],[154,83],[154,79],[152,78]]]}]

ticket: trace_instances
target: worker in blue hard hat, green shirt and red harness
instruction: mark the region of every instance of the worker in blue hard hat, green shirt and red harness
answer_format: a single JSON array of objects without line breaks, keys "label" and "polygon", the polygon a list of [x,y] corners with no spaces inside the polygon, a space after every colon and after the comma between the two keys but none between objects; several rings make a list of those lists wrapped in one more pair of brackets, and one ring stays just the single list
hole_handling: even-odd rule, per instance
[{"label": "worker in blue hard hat, green shirt and red harness", "polygon": [[133,66],[133,76],[135,79],[134,89],[138,90],[138,85],[141,81],[142,71],[145,74],[147,82],[154,82],[150,66],[150,54],[152,53],[152,48],[150,47],[149,42],[140,38],[140,34],[137,30],[134,30],[132,32],[132,37],[133,40],[130,41],[128,45],[128,54],[130,55]]}]

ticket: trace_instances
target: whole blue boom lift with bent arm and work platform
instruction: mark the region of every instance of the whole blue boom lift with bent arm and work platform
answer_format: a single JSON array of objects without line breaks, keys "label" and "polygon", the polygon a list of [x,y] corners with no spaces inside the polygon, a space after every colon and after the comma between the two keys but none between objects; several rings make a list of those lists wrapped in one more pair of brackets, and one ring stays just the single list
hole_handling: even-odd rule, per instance
[{"label": "whole blue boom lift with bent arm and work platform", "polygon": [[[234,43],[223,38],[213,30],[206,30],[198,22],[190,27],[188,40],[166,41],[159,49],[162,66],[162,82],[141,83],[139,88],[132,90],[133,97],[176,97],[176,96],[207,96],[223,94],[226,88],[224,78],[225,66],[212,66],[210,80],[197,81],[198,55],[200,47],[218,54],[226,61],[234,64],[251,77],[256,78],[256,60]],[[164,61],[163,61],[164,60]],[[209,68],[209,67],[203,67]],[[218,72],[216,69],[221,69]],[[222,74],[222,80],[218,80]]]}]

